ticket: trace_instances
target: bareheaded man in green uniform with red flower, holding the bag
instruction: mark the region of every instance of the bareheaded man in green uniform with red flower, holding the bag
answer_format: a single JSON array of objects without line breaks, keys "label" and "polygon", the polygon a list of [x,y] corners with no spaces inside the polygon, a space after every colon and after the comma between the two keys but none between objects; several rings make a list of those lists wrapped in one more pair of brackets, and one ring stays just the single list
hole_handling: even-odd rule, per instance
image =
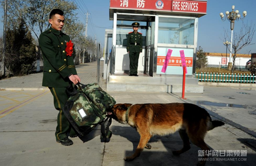
[{"label": "bareheaded man in green uniform with red flower, holding the bag", "polygon": [[[55,132],[56,141],[69,146],[73,142],[68,136],[75,137],[77,135],[63,114],[62,107],[69,98],[66,88],[70,82],[74,84],[80,82],[80,78],[75,69],[72,53],[66,52],[70,37],[61,32],[64,22],[63,12],[59,9],[52,10],[49,16],[51,27],[40,34],[39,46],[44,58],[42,86],[49,87],[54,98],[54,106],[59,110]],[[69,50],[72,49],[73,46],[69,47]]]}]

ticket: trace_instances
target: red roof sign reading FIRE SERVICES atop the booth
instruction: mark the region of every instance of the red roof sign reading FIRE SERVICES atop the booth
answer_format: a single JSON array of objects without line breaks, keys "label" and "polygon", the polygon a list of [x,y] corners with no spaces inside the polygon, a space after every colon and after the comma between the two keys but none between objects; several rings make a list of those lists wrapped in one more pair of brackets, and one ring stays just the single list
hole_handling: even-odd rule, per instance
[{"label": "red roof sign reading FIRE SERVICES atop the booth", "polygon": [[205,13],[207,1],[194,0],[110,0],[110,8],[153,10],[185,13]]}]

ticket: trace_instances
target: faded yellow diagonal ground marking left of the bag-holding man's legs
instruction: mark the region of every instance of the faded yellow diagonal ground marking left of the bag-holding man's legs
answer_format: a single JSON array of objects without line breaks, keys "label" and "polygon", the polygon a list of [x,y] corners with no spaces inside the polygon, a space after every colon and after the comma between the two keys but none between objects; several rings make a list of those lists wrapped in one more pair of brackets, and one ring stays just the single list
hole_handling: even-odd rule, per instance
[{"label": "faded yellow diagonal ground marking left of the bag-holding man's legs", "polygon": [[27,100],[25,100],[25,101],[21,101],[20,103],[14,105],[14,106],[11,106],[11,108],[8,107],[8,108],[2,110],[2,112],[0,112],[0,118],[5,117],[6,115],[8,115],[8,114],[14,112],[16,109],[18,109],[18,108],[20,108],[20,107],[22,107],[22,106],[28,104],[29,101],[31,102],[31,101],[35,100],[36,98],[38,98],[39,96],[41,96],[41,95],[46,95],[46,94],[49,93],[49,92],[50,92],[50,91],[42,92],[42,93],[40,93],[40,94],[38,94],[38,95],[36,95],[36,96],[33,96],[33,97],[31,97],[31,98],[29,98],[29,99],[27,99]]}]

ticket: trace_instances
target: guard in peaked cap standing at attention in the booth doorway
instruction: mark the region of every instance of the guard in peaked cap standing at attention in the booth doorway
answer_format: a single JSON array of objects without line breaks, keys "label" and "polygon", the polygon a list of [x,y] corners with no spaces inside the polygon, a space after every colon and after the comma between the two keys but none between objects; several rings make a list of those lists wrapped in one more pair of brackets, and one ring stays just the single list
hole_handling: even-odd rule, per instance
[{"label": "guard in peaked cap standing at attention in the booth doorway", "polygon": [[142,34],[138,32],[139,23],[134,22],[133,32],[130,32],[127,37],[127,52],[130,58],[130,76],[138,76],[139,55],[142,52]]}]

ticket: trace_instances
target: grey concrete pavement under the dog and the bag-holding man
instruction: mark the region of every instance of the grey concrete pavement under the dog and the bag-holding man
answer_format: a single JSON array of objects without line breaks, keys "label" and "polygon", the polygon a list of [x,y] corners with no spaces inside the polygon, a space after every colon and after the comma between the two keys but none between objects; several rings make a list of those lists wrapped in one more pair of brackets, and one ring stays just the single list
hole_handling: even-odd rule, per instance
[{"label": "grey concrete pavement under the dog and the bag-holding man", "polygon": [[[79,65],[77,70],[83,84],[96,82],[96,63]],[[132,127],[115,121],[111,125],[113,136],[109,143],[100,143],[99,128],[82,141],[78,137],[72,139],[72,146],[56,143],[54,132],[58,112],[54,109],[50,91],[40,86],[41,76],[37,73],[0,80],[1,165],[196,165],[201,158],[200,149],[193,144],[189,151],[174,156],[172,151],[182,148],[179,134],[174,133],[154,136],[150,140],[151,150],[144,149],[140,157],[125,162],[123,157],[134,152],[139,134]],[[100,85],[104,88],[102,79]],[[253,89],[205,86],[203,94],[185,94],[186,100],[180,99],[179,93],[109,94],[117,103],[198,104],[207,109],[212,119],[226,123],[209,131],[205,137],[211,150],[225,150],[225,156],[209,156],[211,161],[206,165],[255,165],[256,91]],[[231,152],[238,155],[238,151],[246,152],[246,156],[227,156]]]}]

